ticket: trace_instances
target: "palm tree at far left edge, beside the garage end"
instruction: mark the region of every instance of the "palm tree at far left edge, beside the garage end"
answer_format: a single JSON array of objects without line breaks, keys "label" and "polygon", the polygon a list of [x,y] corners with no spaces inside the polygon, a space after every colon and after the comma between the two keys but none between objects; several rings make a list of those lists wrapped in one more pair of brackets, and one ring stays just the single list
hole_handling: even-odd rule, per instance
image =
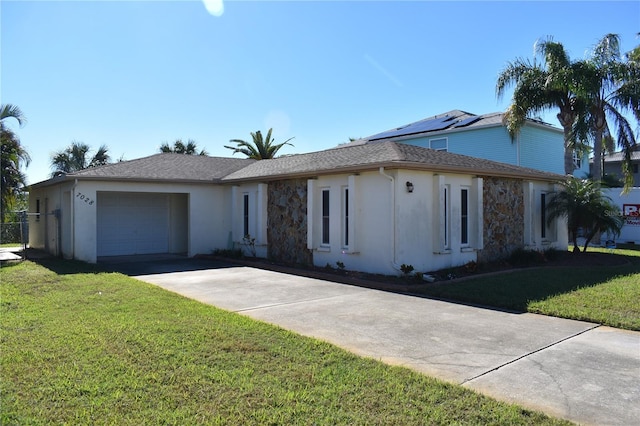
[{"label": "palm tree at far left edge, beside the garage end", "polygon": [[12,208],[26,186],[26,176],[22,166],[28,166],[31,158],[20,145],[18,136],[4,124],[7,118],[14,118],[19,125],[26,122],[25,116],[15,105],[0,105],[0,222],[4,222],[8,209]]}]

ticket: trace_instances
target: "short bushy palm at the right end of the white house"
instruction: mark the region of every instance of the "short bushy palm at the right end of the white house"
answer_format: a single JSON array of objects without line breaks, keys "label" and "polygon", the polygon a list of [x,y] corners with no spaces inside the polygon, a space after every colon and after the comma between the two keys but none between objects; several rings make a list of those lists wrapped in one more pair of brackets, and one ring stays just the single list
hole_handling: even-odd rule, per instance
[{"label": "short bushy palm at the right end of the white house", "polygon": [[555,192],[547,203],[547,223],[551,224],[559,217],[567,219],[574,253],[580,252],[577,241],[580,228],[586,237],[582,251],[587,251],[589,243],[598,233],[620,235],[624,224],[620,208],[603,194],[596,182],[569,177],[559,184],[562,190]]}]

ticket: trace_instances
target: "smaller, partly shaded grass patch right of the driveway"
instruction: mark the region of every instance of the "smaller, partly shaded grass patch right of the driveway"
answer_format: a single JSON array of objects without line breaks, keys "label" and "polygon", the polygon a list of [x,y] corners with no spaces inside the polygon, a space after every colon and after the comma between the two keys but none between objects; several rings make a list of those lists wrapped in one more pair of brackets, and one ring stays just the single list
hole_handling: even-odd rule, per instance
[{"label": "smaller, partly shaded grass patch right of the driveway", "polygon": [[465,303],[591,321],[640,330],[640,251],[635,247],[589,251],[626,256],[628,265],[523,269],[416,292]]}]

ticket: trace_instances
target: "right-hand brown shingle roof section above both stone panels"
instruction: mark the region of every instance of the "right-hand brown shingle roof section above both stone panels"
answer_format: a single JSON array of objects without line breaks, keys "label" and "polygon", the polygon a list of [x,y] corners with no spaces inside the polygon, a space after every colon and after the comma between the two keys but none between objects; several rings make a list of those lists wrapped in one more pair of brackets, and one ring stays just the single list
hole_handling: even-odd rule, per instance
[{"label": "right-hand brown shingle roof section above both stone panels", "polygon": [[435,151],[396,142],[347,144],[325,151],[257,161],[222,179],[223,182],[275,180],[340,172],[375,170],[379,167],[472,173],[489,176],[561,179],[561,175],[505,163]]}]

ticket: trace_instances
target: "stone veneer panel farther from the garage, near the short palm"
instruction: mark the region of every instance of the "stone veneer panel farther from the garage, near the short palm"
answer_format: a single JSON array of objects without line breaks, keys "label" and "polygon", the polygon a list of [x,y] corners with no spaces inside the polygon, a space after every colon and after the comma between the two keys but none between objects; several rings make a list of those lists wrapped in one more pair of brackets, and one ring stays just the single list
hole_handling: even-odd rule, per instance
[{"label": "stone veneer panel farther from the garage, near the short palm", "polygon": [[524,247],[524,191],[522,181],[483,177],[484,248],[478,262],[508,257]]}]

